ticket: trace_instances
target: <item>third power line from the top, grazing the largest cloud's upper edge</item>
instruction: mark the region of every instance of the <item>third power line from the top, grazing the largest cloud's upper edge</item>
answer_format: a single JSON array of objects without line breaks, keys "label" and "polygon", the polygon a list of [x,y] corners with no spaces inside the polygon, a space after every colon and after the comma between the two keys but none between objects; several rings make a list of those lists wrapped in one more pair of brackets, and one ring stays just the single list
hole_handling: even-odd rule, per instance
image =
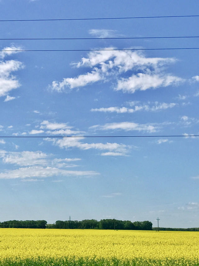
[{"label": "third power line from the top, grazing the largest cloud's upper edge", "polygon": [[0,52],[72,52],[72,51],[146,51],[146,50],[194,50],[199,47],[188,47],[188,48],[140,48],[140,49],[64,49],[64,50],[0,50]]}]

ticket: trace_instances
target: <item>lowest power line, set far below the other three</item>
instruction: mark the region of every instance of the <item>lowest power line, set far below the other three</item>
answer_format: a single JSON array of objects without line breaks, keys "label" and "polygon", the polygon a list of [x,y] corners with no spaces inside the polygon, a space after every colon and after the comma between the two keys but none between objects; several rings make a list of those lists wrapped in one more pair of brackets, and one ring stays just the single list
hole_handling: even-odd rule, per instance
[{"label": "lowest power line, set far below the other three", "polygon": [[144,136],[0,136],[0,138],[171,138],[199,137],[199,135],[144,135]]}]

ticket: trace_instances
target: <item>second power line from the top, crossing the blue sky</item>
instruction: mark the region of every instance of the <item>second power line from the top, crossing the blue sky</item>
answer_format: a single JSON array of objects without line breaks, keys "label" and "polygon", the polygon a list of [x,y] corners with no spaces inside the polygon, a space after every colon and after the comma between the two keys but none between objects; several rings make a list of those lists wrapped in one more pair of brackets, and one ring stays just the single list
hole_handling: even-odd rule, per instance
[{"label": "second power line from the top, crossing the blue sky", "polygon": [[199,36],[163,36],[163,37],[105,37],[105,38],[0,38],[0,40],[120,40],[120,39],[169,39],[199,38]]}]

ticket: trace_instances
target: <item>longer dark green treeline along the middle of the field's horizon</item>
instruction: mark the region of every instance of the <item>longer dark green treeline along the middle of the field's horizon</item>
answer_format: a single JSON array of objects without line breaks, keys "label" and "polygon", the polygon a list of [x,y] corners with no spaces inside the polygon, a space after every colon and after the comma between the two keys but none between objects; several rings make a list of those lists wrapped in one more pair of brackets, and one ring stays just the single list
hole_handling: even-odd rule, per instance
[{"label": "longer dark green treeline along the middle of the field's horizon", "polygon": [[55,224],[48,224],[46,228],[52,229],[109,229],[109,230],[152,230],[152,223],[149,221],[131,222],[115,219],[82,220],[82,221],[56,221]]}]

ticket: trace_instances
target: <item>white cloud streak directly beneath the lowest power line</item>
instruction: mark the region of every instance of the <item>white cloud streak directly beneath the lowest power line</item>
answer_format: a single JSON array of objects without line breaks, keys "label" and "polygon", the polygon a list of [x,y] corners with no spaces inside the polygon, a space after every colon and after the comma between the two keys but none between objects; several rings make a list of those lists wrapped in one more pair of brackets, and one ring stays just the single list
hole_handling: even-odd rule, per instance
[{"label": "white cloud streak directly beneath the lowest power line", "polygon": [[45,138],[46,141],[53,142],[54,145],[59,146],[60,148],[79,148],[82,150],[88,149],[97,149],[97,150],[108,150],[111,152],[110,154],[106,155],[113,155],[112,152],[120,153],[119,155],[126,155],[128,152],[128,148],[125,144],[118,144],[118,143],[83,143],[82,140],[84,137],[71,137],[71,138]]}]

